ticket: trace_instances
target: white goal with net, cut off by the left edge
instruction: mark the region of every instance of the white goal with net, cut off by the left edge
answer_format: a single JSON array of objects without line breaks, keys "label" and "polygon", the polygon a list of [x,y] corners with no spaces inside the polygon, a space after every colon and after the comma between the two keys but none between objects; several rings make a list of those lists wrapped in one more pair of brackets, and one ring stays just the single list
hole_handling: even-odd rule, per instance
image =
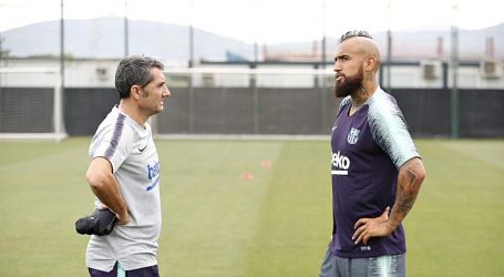
[{"label": "white goal with net, cut off by the left edge", "polygon": [[60,71],[0,68],[0,140],[65,137]]}]

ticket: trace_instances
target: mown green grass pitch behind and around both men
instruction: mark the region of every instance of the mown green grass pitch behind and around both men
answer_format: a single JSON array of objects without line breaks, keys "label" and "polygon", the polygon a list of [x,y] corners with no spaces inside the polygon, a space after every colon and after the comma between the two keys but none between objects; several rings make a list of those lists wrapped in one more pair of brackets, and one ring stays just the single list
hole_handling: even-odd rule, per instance
[{"label": "mown green grass pitch behind and around both men", "polygon": [[[408,276],[504,276],[504,141],[415,142],[426,179],[404,222]],[[0,142],[0,276],[88,276],[74,222],[93,207],[89,143]],[[318,276],[329,142],[156,145],[161,276]]]}]

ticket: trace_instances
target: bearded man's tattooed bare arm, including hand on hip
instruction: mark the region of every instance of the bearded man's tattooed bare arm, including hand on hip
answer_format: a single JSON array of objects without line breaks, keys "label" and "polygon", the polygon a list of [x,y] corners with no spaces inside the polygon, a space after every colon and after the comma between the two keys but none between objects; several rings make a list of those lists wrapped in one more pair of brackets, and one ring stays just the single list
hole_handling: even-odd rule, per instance
[{"label": "bearded man's tattooed bare arm, including hand on hip", "polygon": [[371,237],[390,235],[413,207],[420,186],[425,178],[422,160],[411,158],[399,168],[395,202],[389,217],[389,207],[377,218],[360,218],[354,225],[352,239],[356,244],[368,243]]}]

